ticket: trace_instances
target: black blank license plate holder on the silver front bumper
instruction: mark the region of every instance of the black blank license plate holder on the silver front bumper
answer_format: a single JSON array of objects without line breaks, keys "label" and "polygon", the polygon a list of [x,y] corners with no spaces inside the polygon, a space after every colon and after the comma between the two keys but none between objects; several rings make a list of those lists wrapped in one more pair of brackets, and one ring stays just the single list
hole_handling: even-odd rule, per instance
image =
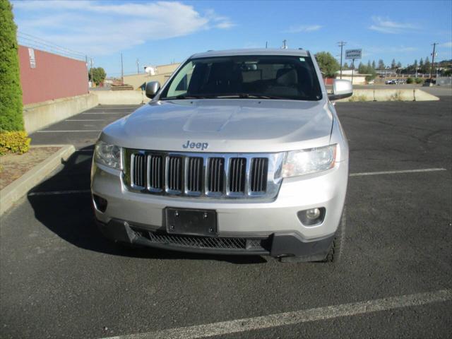
[{"label": "black blank license plate holder on the silver front bumper", "polygon": [[165,208],[165,216],[169,234],[210,237],[217,234],[217,213],[215,210]]}]

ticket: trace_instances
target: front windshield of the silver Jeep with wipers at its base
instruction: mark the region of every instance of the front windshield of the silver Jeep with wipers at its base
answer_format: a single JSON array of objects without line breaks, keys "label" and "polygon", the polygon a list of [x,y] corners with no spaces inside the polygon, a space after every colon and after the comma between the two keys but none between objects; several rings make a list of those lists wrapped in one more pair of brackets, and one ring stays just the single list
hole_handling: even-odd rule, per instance
[{"label": "front windshield of the silver Jeep with wipers at its base", "polygon": [[321,97],[310,57],[237,56],[190,59],[165,87],[160,100]]}]

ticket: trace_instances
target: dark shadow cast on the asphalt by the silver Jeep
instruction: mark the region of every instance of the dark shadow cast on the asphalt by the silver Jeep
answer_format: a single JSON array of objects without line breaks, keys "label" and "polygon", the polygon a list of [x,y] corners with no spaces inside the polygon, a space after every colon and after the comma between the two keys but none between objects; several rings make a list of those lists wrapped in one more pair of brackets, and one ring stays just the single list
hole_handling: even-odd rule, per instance
[{"label": "dark shadow cast on the asphalt by the silver Jeep", "polygon": [[[214,256],[165,251],[152,248],[125,249],[102,236],[93,219],[90,193],[90,167],[93,146],[82,148],[64,162],[61,171],[35,186],[28,201],[35,218],[62,239],[90,251],[117,256],[158,259],[218,260],[230,263],[266,263],[261,256]],[[73,193],[55,194],[59,191]],[[54,192],[54,194],[42,194]]]}]

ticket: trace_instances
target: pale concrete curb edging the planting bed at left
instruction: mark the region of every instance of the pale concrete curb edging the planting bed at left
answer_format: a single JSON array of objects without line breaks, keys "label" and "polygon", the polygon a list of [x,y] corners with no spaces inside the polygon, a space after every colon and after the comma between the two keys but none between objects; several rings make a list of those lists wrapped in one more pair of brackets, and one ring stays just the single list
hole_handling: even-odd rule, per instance
[{"label": "pale concrete curb edging the planting bed at left", "polygon": [[73,145],[45,146],[61,146],[61,148],[0,191],[0,215],[3,215],[16,201],[61,165],[61,160],[67,160],[76,151]]}]

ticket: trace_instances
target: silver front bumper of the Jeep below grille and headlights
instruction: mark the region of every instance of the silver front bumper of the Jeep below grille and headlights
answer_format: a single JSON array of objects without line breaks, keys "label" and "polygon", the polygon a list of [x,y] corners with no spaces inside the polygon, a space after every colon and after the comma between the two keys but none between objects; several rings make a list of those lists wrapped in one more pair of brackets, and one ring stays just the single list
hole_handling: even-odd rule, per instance
[{"label": "silver front bumper of the Jeep below grille and headlights", "polygon": [[[345,203],[347,179],[348,162],[345,160],[325,172],[284,179],[278,196],[272,201],[220,201],[131,192],[122,183],[119,171],[93,163],[91,190],[108,202],[104,213],[95,208],[95,218],[102,232],[112,239],[180,251],[272,256],[285,255],[288,251],[291,253],[287,254],[304,256],[308,252],[323,254],[323,245],[331,244]],[[261,239],[263,245],[239,251],[199,246],[181,248],[174,243],[155,242],[149,234],[165,234],[165,208],[215,210],[217,238],[244,239],[245,243],[249,239]],[[297,213],[309,208],[326,209],[321,224],[302,224]],[[290,246],[299,250],[290,249]]]}]

